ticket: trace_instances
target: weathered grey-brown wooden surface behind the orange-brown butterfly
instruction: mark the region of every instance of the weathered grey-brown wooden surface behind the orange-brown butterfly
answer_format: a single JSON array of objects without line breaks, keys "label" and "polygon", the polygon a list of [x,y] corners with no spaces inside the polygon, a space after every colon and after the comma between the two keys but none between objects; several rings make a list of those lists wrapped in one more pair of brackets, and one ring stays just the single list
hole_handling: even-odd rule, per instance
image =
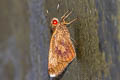
[{"label": "weathered grey-brown wooden surface behind the orange-brown butterfly", "polygon": [[[1,0],[0,80],[120,80],[119,0]],[[49,78],[50,20],[67,19],[77,57]]]}]

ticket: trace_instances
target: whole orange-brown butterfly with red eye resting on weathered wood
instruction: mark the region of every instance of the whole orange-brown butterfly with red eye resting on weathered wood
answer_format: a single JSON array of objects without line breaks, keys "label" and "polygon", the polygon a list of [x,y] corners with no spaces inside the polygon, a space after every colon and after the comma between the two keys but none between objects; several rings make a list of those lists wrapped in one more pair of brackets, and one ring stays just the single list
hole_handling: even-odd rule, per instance
[{"label": "whole orange-brown butterfly with red eye resting on weathered wood", "polygon": [[76,57],[76,52],[66,25],[73,23],[77,18],[66,22],[65,19],[72,11],[68,12],[61,17],[60,21],[55,17],[51,20],[53,34],[48,55],[48,73],[50,77],[59,76]]}]

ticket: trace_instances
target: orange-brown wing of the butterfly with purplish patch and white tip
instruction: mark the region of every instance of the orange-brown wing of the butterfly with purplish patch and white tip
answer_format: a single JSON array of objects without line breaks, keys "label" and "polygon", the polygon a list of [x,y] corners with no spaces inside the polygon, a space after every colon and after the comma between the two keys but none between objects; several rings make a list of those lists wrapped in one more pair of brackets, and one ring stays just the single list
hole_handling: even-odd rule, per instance
[{"label": "orange-brown wing of the butterfly with purplish patch and white tip", "polygon": [[56,77],[62,73],[75,56],[76,53],[67,28],[56,30],[50,42],[48,59],[50,77]]}]

